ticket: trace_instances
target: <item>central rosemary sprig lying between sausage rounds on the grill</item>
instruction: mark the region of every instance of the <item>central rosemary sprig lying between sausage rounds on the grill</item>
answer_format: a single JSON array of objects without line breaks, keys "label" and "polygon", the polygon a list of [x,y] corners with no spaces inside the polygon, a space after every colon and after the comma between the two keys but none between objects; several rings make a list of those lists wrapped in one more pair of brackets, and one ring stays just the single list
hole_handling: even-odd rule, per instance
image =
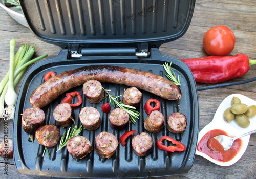
[{"label": "central rosemary sprig lying between sausage rounds on the grill", "polygon": [[136,123],[137,122],[137,119],[139,119],[140,117],[140,112],[134,110],[136,109],[136,107],[133,107],[133,106],[129,106],[129,105],[126,105],[126,104],[123,104],[120,102],[121,99],[117,99],[117,98],[120,98],[122,95],[119,95],[119,96],[114,96],[114,95],[111,95],[110,92],[111,90],[110,89],[104,89],[103,90],[108,94],[106,95],[109,96],[109,99],[110,99],[110,103],[114,106],[114,107],[120,107],[122,109],[124,109],[130,116],[130,120],[132,121],[132,123]]}]

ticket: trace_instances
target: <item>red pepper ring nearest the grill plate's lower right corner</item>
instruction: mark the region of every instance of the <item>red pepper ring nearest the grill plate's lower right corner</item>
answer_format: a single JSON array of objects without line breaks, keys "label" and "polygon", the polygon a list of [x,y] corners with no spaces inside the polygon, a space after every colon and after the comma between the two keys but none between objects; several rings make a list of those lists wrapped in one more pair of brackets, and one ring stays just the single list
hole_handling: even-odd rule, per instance
[{"label": "red pepper ring nearest the grill plate's lower right corner", "polygon": [[[166,146],[166,145],[163,145],[162,142],[163,140],[168,140],[170,142],[172,142],[172,144],[175,144],[173,146]],[[186,146],[182,143],[180,143],[179,141],[176,141],[175,139],[169,137],[169,136],[162,136],[159,141],[157,140],[157,147],[159,149],[163,149],[165,151],[168,151],[168,152],[175,152],[175,151],[184,151],[186,150]]]}]

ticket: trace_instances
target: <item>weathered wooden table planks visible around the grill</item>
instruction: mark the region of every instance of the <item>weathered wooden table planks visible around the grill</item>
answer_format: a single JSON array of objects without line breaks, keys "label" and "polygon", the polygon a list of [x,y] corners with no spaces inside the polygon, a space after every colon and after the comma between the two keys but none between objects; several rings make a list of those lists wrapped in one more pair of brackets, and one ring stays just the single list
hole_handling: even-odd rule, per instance
[{"label": "weathered wooden table planks visible around the grill", "polygon": [[[30,30],[14,21],[7,12],[0,8],[0,80],[7,73],[9,66],[9,46],[12,38],[16,39],[16,47],[24,43],[33,44],[36,56],[47,53],[49,58],[57,56],[59,47],[38,40]],[[207,54],[203,50],[204,33],[216,25],[228,26],[236,35],[236,46],[230,55],[244,53],[251,60],[256,60],[256,3],[255,0],[197,0],[193,19],[188,31],[180,39],[168,42],[160,47],[162,55],[174,58],[196,58]],[[16,49],[17,50],[17,49]],[[249,79],[256,76],[256,65],[249,72],[229,82]],[[197,84],[204,86],[203,84]],[[19,85],[16,87],[18,91]],[[256,100],[256,82],[243,85],[198,91],[200,121],[199,131],[214,117],[220,103],[229,95],[239,93]],[[12,120],[7,122],[8,137],[12,137]],[[4,121],[0,122],[0,140],[4,139]],[[250,142],[242,158],[229,167],[218,166],[196,155],[193,167],[186,174],[161,178],[256,178],[256,135],[250,137]],[[0,176],[5,178],[46,178],[20,174],[13,160],[8,160],[8,175],[4,174],[5,162],[0,159]]]}]

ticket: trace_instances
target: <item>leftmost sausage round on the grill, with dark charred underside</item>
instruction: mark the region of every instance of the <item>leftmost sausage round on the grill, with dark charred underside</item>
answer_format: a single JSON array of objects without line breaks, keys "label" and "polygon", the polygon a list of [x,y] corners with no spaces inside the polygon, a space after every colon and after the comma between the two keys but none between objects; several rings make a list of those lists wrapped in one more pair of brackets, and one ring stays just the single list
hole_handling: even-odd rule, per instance
[{"label": "leftmost sausage round on the grill, with dark charred underside", "polygon": [[22,126],[25,132],[34,134],[44,124],[45,112],[39,107],[28,108],[22,114]]}]

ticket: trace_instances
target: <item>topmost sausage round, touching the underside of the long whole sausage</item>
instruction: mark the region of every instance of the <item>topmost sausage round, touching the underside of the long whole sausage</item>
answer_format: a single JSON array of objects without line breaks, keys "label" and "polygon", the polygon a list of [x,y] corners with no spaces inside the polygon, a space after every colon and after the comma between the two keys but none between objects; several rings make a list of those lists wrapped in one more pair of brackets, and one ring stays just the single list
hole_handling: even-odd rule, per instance
[{"label": "topmost sausage round, touching the underside of the long whole sausage", "polygon": [[84,83],[82,91],[89,103],[99,103],[104,98],[101,83],[97,80],[89,80]]}]

